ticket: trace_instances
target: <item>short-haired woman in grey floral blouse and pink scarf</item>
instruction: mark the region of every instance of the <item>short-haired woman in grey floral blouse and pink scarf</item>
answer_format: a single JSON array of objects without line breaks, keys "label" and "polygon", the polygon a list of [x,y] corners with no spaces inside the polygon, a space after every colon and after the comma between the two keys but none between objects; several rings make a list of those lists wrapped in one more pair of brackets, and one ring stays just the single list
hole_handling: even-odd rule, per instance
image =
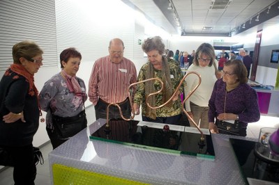
[{"label": "short-haired woman in grey floral blouse and pink scarf", "polygon": [[87,99],[86,86],[84,81],[76,76],[81,60],[82,55],[75,48],[64,49],[60,54],[61,72],[46,81],[40,91],[40,107],[47,112],[46,130],[53,149],[69,138],[59,134],[56,122],[61,124],[75,122],[75,131],[70,136],[86,127],[84,110],[84,102]]}]

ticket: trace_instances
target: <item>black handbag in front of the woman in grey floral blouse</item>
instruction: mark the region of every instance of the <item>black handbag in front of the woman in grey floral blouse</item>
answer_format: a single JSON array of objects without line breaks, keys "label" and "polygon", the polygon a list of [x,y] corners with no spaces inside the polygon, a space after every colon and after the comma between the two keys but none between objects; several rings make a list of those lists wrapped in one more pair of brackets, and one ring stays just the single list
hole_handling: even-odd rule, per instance
[{"label": "black handbag in front of the woman in grey floral blouse", "polygon": [[85,111],[83,110],[78,115],[68,118],[62,118],[52,114],[52,124],[58,138],[70,138],[86,128],[87,120]]}]

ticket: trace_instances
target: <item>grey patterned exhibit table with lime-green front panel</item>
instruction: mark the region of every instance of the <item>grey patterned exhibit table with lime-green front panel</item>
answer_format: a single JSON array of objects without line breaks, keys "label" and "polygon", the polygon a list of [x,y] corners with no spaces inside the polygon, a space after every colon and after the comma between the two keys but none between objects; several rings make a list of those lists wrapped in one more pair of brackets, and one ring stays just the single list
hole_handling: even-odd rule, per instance
[{"label": "grey patterned exhibit table with lime-green front panel", "polygon": [[255,139],[211,134],[212,159],[90,138],[104,124],[93,122],[50,152],[52,184],[245,184],[229,138]]}]

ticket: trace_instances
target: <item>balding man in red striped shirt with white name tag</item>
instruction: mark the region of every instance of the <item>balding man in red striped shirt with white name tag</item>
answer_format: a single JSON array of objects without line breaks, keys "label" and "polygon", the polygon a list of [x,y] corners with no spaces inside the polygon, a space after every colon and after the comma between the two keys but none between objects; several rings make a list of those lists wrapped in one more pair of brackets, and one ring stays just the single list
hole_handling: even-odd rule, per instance
[{"label": "balding man in red striped shirt with white name tag", "polygon": [[[128,99],[128,87],[137,81],[137,70],[132,61],[123,57],[123,41],[119,38],[110,40],[110,55],[99,58],[93,65],[89,79],[89,100],[95,106],[96,120],[107,118],[107,106],[117,103],[125,118],[130,118],[131,107]],[[132,88],[132,97],[135,86]],[[119,108],[110,106],[110,120],[122,119]]]}]

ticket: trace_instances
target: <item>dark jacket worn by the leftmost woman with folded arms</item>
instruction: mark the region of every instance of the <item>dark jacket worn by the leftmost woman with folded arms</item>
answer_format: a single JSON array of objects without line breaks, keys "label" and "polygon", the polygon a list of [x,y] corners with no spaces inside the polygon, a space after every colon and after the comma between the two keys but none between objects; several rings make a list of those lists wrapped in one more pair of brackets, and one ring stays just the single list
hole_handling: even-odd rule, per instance
[{"label": "dark jacket worn by the leftmost woman with folded arms", "polygon": [[[3,115],[22,111],[26,122],[21,119],[3,122]],[[6,71],[0,82],[0,145],[31,145],[38,130],[39,115],[38,99],[36,93],[30,93],[27,79],[11,70]]]}]

